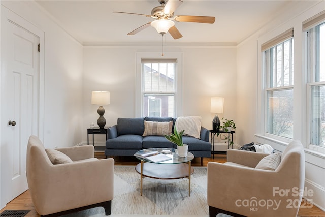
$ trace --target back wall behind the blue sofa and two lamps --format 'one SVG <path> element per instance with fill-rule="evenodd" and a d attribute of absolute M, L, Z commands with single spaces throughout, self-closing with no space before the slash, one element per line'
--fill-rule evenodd
<path fill-rule="evenodd" d="M 135 117 L 137 52 L 160 52 L 158 46 L 84 47 L 84 129 L 98 118 L 98 106 L 90 104 L 92 90 L 110 91 L 110 105 L 104 106 L 107 126 L 118 117 Z M 236 121 L 236 47 L 165 47 L 164 52 L 182 53 L 182 110 L 178 116 L 202 116 L 202 125 L 212 129 L 214 114 L 210 99 L 224 97 L 224 113 Z M 86 141 L 86 134 L 83 141 Z M 104 138 L 95 138 L 100 143 Z"/>

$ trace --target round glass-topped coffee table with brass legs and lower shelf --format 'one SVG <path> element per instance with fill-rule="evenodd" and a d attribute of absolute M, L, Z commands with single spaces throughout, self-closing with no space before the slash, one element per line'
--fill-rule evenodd
<path fill-rule="evenodd" d="M 147 158 L 143 158 L 145 153 L 158 152 L 169 157 L 169 160 L 161 162 L 153 162 Z M 144 177 L 155 179 L 179 179 L 188 178 L 188 196 L 190 196 L 191 189 L 191 174 L 194 169 L 191 167 L 191 160 L 194 155 L 187 152 L 187 157 L 179 157 L 177 149 L 174 148 L 148 148 L 135 153 L 137 159 L 141 161 L 136 166 L 136 171 L 141 175 L 140 181 L 140 194 L 142 196 L 142 180 Z"/>

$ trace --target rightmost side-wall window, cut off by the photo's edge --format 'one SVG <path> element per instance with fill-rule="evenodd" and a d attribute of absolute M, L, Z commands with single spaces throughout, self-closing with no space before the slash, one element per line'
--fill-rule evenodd
<path fill-rule="evenodd" d="M 325 149 L 325 12 L 303 22 L 307 32 L 310 148 Z M 317 147 L 323 147 L 318 149 Z"/>

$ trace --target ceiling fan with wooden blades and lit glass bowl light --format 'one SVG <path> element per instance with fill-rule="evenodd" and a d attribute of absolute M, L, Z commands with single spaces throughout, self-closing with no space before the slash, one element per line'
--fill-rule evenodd
<path fill-rule="evenodd" d="M 183 3 L 181 0 L 158 0 L 161 6 L 154 7 L 151 10 L 151 15 L 146 14 L 137 14 L 137 13 L 128 13 L 128 12 L 120 12 L 113 11 L 114 13 L 123 13 L 123 14 L 135 14 L 142 15 L 146 17 L 151 17 L 155 19 L 152 22 L 148 22 L 132 32 L 129 32 L 127 35 L 135 35 L 139 33 L 141 30 L 153 26 L 158 33 L 161 35 L 169 32 L 174 39 L 179 39 L 182 34 L 175 27 L 174 21 L 177 22 L 198 22 L 198 23 L 214 23 L 215 17 L 207 17 L 207 16 L 188 16 L 188 15 L 175 15 L 174 11 Z"/>

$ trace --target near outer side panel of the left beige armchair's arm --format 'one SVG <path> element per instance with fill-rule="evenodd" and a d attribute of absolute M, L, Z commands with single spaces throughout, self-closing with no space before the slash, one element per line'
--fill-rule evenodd
<path fill-rule="evenodd" d="M 50 165 L 33 177 L 31 191 L 41 215 L 113 199 L 114 159 Z M 42 175 L 41 175 L 42 174 Z M 49 188 L 50 187 L 50 188 Z M 68 193 L 68 194 L 67 194 Z"/>

